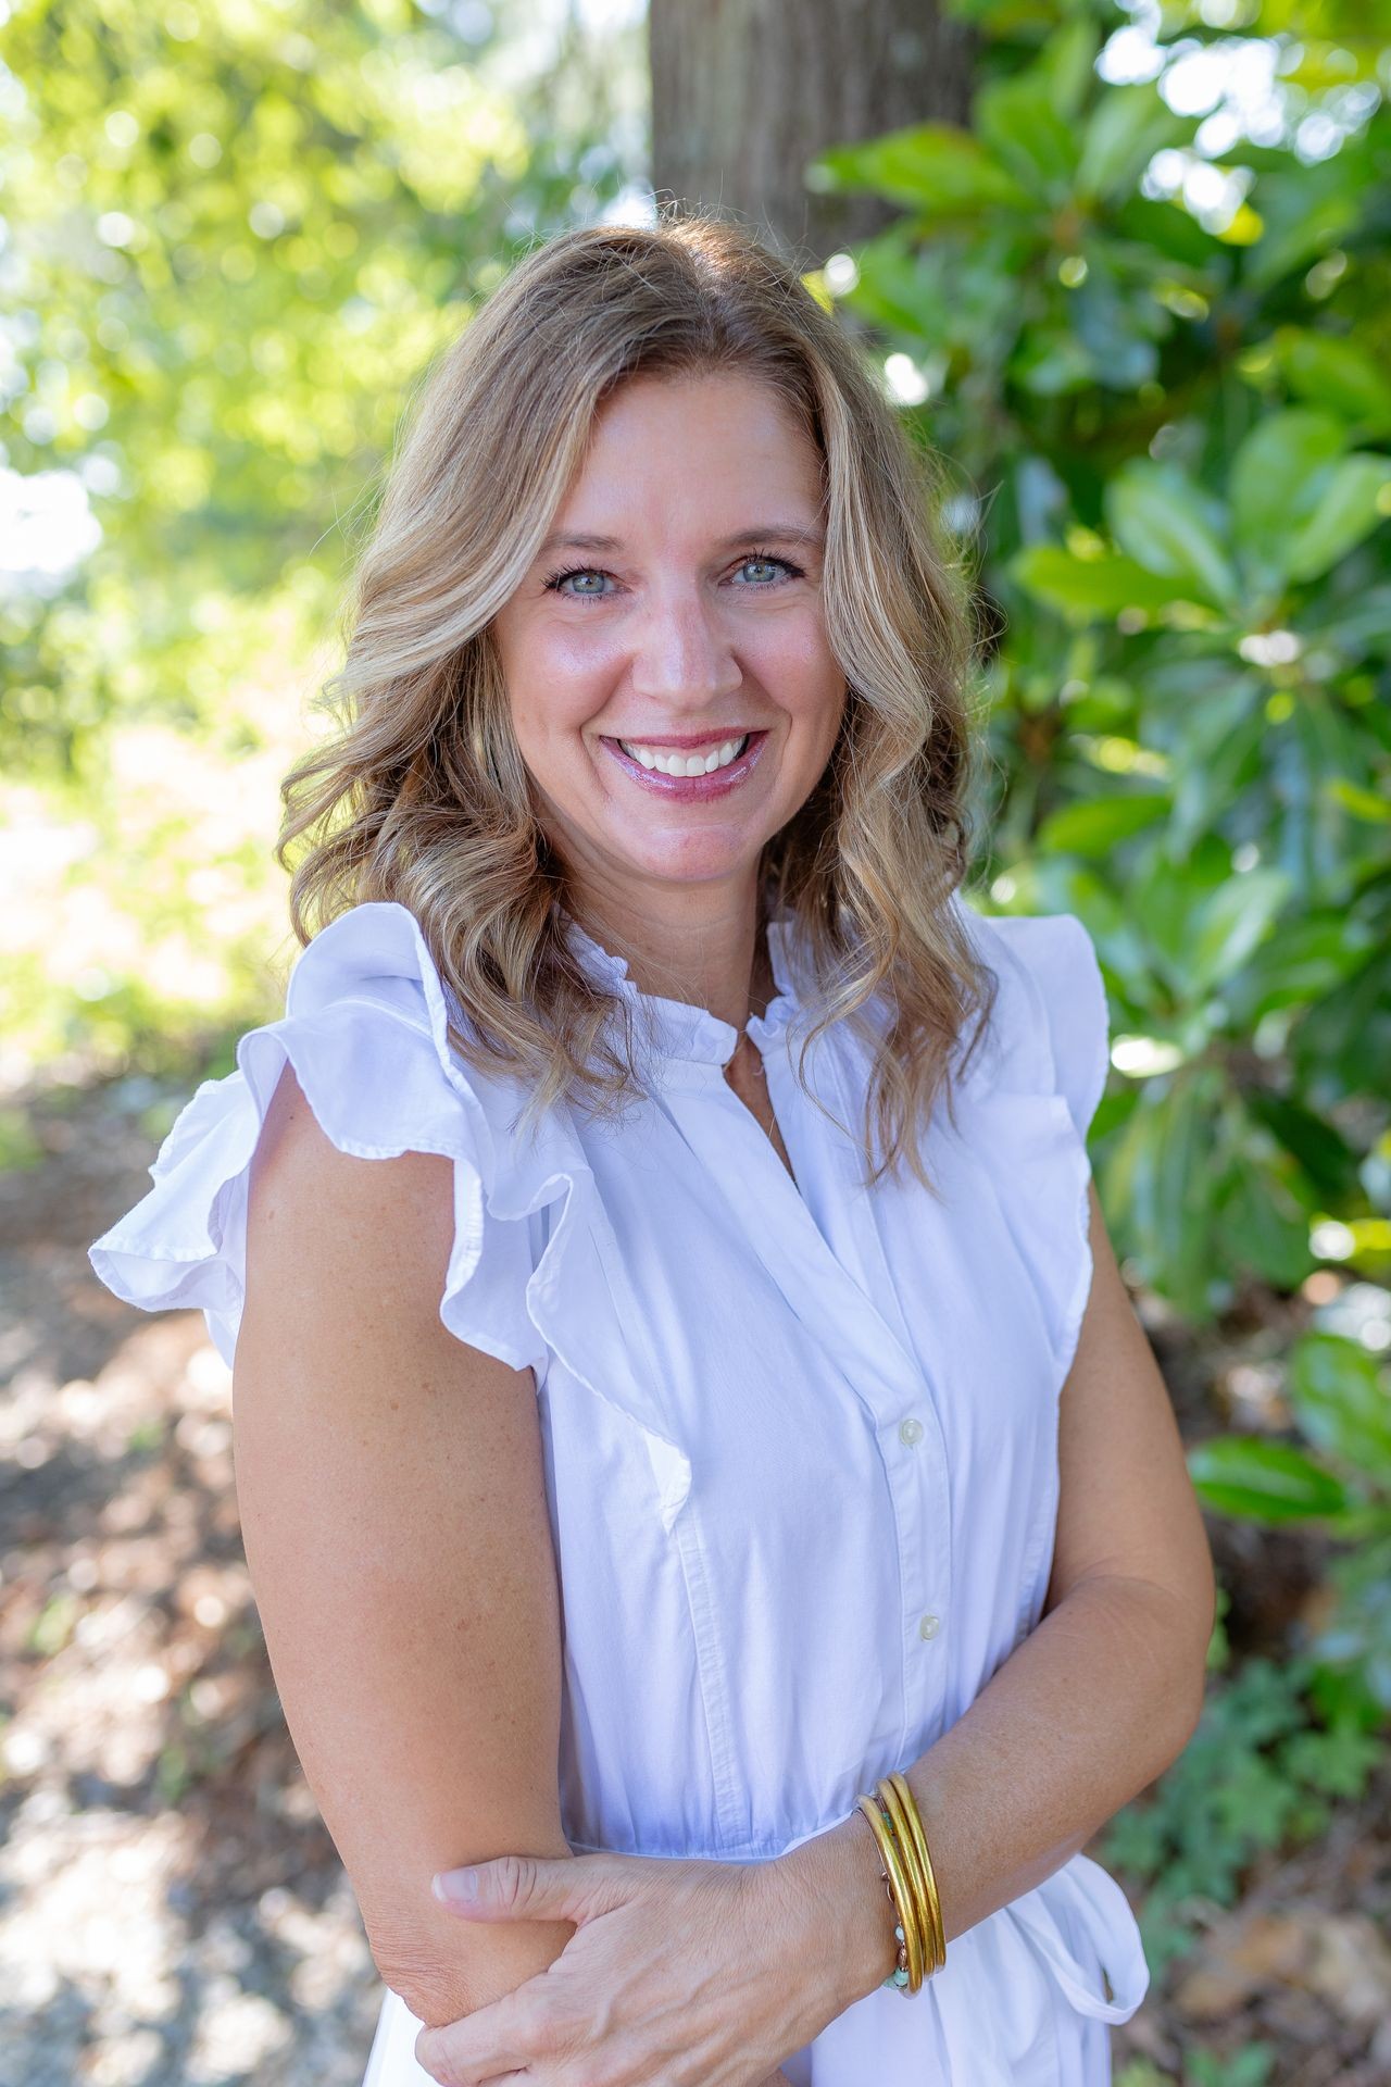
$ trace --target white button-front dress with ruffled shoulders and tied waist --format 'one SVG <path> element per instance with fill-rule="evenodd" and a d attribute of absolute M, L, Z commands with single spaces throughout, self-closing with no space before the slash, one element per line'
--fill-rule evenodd
<path fill-rule="evenodd" d="M 90 1248 L 129 1302 L 202 1309 L 231 1361 L 248 1165 L 286 1058 L 340 1150 L 453 1158 L 440 1317 L 536 1373 L 576 1851 L 797 1847 L 926 1753 L 1043 1613 L 1105 989 L 1072 914 L 953 904 L 999 1000 L 957 1131 L 938 1108 L 924 1142 L 941 1204 L 911 1175 L 865 1192 L 857 1148 L 803 1094 L 790 920 L 770 929 L 778 993 L 749 1035 L 797 1181 L 724 1079 L 736 1031 L 640 993 L 580 929 L 582 962 L 644 1023 L 655 1092 L 617 1127 L 565 1106 L 536 1142 L 513 1135 L 521 1089 L 448 1048 L 417 920 L 373 902 L 300 952 L 286 1014 L 198 1087 L 154 1188 Z M 845 1025 L 809 1054 L 843 1125 L 868 1064 Z M 1147 1985 L 1120 1885 L 1074 1855 L 957 1935 L 918 1995 L 876 1989 L 786 2072 L 1101 2087 L 1105 2024 Z M 365 2087 L 423 2087 L 417 2029 L 384 1993 Z"/>

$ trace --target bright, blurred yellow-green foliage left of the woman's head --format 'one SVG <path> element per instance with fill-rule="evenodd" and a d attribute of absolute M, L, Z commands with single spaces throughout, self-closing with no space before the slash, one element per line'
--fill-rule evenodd
<path fill-rule="evenodd" d="M 561 0 L 0 21 L 0 493 L 33 511 L 0 570 L 19 1085 L 273 1010 L 277 783 L 338 664 L 348 534 L 430 357 L 536 230 L 630 179 L 644 79 L 636 31 L 599 50 Z"/>

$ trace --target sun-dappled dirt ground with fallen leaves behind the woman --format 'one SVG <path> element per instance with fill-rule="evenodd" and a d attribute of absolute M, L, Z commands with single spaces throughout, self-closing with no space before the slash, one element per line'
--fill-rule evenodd
<path fill-rule="evenodd" d="M 0 2087 L 359 2087 L 377 2016 L 242 1559 L 229 1373 L 86 1256 L 194 1083 L 35 1096 L 35 1165 L 0 1173 Z M 1233 1645 L 1278 1645 L 1299 1544 L 1210 1528 Z M 1389 2087 L 1389 1922 L 1383 1768 L 1112 2033 L 1118 2087 Z"/>

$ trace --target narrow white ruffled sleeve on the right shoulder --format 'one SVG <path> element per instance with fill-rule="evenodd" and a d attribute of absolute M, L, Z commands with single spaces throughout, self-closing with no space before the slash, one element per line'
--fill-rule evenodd
<path fill-rule="evenodd" d="M 1087 1133 L 1109 1064 L 1105 981 L 1076 914 L 959 910 L 999 981 L 966 1075 L 970 1137 L 1032 1271 L 1061 1384 L 1093 1275 Z"/>

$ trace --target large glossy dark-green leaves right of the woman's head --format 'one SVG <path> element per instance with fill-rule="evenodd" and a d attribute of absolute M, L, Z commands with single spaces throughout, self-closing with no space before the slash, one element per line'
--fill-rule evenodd
<path fill-rule="evenodd" d="M 903 211 L 826 284 L 953 461 L 989 889 L 1095 937 L 1122 1075 L 1099 1171 L 1147 1284 L 1195 1325 L 1320 1261 L 1381 1284 L 1391 113 L 1251 0 L 1272 142 L 1218 111 L 1214 159 L 1164 79 L 1105 77 L 1114 10 L 968 13 L 970 131 L 843 146 L 817 179 Z M 1172 67 L 1220 42 L 1197 27 Z"/>

